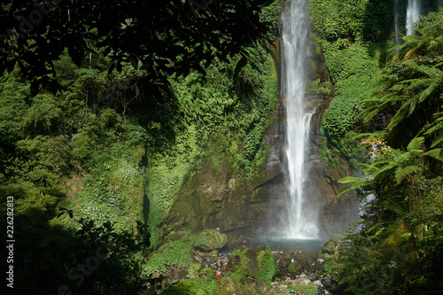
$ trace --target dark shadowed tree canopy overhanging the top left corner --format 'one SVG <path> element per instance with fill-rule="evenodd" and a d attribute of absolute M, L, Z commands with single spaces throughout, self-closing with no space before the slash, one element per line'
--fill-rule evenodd
<path fill-rule="evenodd" d="M 171 74 L 186 76 L 194 70 L 205 74 L 204 67 L 215 56 L 226 60 L 242 54 L 247 61 L 250 55 L 245 53 L 245 47 L 268 43 L 276 24 L 275 2 L 262 0 L 250 4 L 229 0 L 212 2 L 207 8 L 186 1 L 98 1 L 88 8 L 82 2 L 64 3 L 47 8 L 58 17 L 42 16 L 44 26 L 29 23 L 26 32 L 19 15 L 31 12 L 32 17 L 35 6 L 4 4 L 0 18 L 10 27 L 2 39 L 4 58 L 0 72 L 11 72 L 19 64 L 20 74 L 32 82 L 33 93 L 41 85 L 53 92 L 61 89 L 54 78 L 58 74 L 54 64 L 63 54 L 69 55 L 75 66 L 101 66 L 108 73 L 114 68 L 121 72 L 129 64 L 135 69 L 140 67 L 148 82 L 157 85 Z M 273 5 L 268 7 L 270 4 Z M 268 9 L 262 12 L 265 7 Z M 72 15 L 82 17 L 74 20 Z M 158 19 L 156 25 L 144 20 L 153 18 Z M 237 30 L 245 35 L 238 35 Z M 141 35 L 144 37 L 140 38 Z M 146 46 L 146 40 L 156 45 Z M 97 53 L 106 58 L 95 60 Z"/>

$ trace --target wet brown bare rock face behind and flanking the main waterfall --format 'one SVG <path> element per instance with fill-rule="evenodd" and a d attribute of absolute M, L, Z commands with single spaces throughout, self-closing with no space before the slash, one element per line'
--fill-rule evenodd
<path fill-rule="evenodd" d="M 311 79 L 330 81 L 324 65 L 323 54 L 315 53 L 318 44 L 312 44 L 309 58 L 315 66 L 309 73 Z M 315 70 L 314 70 L 315 69 Z M 319 227 L 323 237 L 341 233 L 348 224 L 358 219 L 358 208 L 353 196 L 337 197 L 344 185 L 335 180 L 348 175 L 342 169 L 330 174 L 320 158 L 319 145 L 324 140 L 320 133 L 321 118 L 332 98 L 320 93 L 307 96 L 307 108 L 315 113 L 311 119 L 310 169 L 307 175 L 309 203 L 319 216 Z M 245 244 L 262 235 L 271 235 L 274 229 L 284 227 L 281 215 L 286 211 L 287 179 L 284 173 L 285 156 L 285 100 L 281 98 L 271 113 L 274 122 L 263 136 L 262 146 L 271 145 L 266 163 L 252 182 L 237 177 L 225 156 L 221 164 L 214 167 L 207 160 L 191 179 L 184 182 L 175 205 L 165 216 L 163 223 L 176 229 L 181 227 L 198 232 L 203 229 L 219 228 L 228 236 L 229 244 Z M 340 164 L 347 166 L 343 159 Z"/>

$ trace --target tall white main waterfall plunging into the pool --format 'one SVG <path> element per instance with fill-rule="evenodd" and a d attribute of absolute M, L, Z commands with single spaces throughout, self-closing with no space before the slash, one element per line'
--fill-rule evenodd
<path fill-rule="evenodd" d="M 283 235 L 294 239 L 315 238 L 318 232 L 317 216 L 307 206 L 309 196 L 304 188 L 312 116 L 304 108 L 309 43 L 307 0 L 291 0 L 290 4 L 284 5 L 283 11 L 281 95 L 287 112 L 285 154 L 290 182 Z"/>

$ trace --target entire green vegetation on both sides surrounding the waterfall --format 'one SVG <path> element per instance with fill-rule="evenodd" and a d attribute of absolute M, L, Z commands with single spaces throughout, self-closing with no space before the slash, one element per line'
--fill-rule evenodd
<path fill-rule="evenodd" d="M 227 159 L 251 182 L 269 148 L 261 142 L 278 93 L 269 41 L 280 4 L 204 3 L 1 4 L 0 205 L 6 213 L 13 197 L 14 291 L 129 294 L 172 266 L 198 278 L 165 294 L 258 294 L 239 282 L 276 280 L 268 247 L 237 249 L 238 267 L 216 281 L 191 253 L 225 237 L 157 230 L 202 163 Z M 339 252 L 324 257 L 343 293 L 443 289 L 443 11 L 423 4 L 416 35 L 394 47 L 394 10 L 404 23 L 405 7 L 310 2 L 334 85 L 330 93 L 330 82 L 312 83 L 334 96 L 322 156 L 330 171 L 339 155 L 365 174 L 337 180 L 365 204 Z"/>

